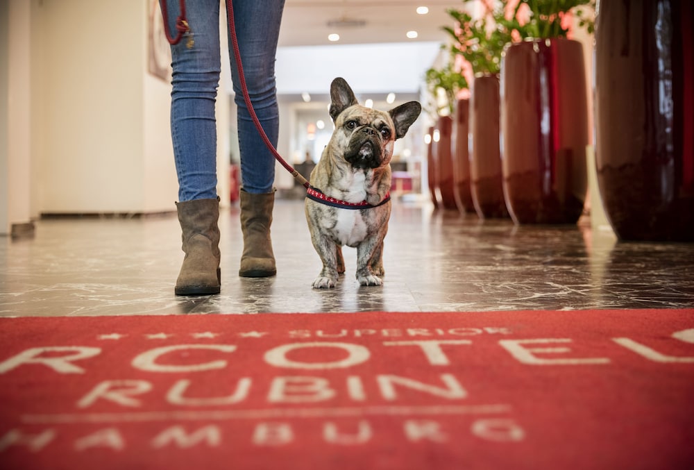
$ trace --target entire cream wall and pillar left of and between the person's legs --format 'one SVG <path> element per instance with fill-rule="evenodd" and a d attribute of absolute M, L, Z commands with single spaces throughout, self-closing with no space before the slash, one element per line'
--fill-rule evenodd
<path fill-rule="evenodd" d="M 0 0 L 0 233 L 43 213 L 175 210 L 171 85 L 147 72 L 156 1 Z"/>

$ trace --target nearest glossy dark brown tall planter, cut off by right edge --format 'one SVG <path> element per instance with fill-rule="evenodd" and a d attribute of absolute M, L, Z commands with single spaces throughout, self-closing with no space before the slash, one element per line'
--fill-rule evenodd
<path fill-rule="evenodd" d="M 694 8 L 602 1 L 595 160 L 620 240 L 694 241 Z"/>

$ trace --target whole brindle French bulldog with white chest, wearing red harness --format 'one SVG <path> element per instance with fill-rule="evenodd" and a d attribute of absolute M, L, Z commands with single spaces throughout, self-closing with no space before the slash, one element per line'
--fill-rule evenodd
<path fill-rule="evenodd" d="M 357 249 L 359 285 L 381 285 L 383 240 L 391 214 L 390 161 L 422 107 L 409 101 L 388 112 L 357 103 L 344 80 L 330 85 L 330 117 L 335 131 L 310 175 L 305 212 L 323 269 L 313 287 L 335 287 L 344 274 L 342 246 Z"/>

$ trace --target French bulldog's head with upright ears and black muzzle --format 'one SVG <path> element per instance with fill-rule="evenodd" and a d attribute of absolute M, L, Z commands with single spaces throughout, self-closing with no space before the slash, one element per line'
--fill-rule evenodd
<path fill-rule="evenodd" d="M 361 106 L 342 78 L 332 82 L 330 98 L 330 117 L 335 122 L 331 146 L 340 149 L 344 159 L 358 169 L 389 164 L 394 142 L 407 133 L 421 112 L 416 101 L 389 112 Z"/>

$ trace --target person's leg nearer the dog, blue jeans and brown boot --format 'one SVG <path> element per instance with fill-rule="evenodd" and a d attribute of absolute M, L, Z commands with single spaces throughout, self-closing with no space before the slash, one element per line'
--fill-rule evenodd
<path fill-rule="evenodd" d="M 279 129 L 275 56 L 283 8 L 284 0 L 233 1 L 236 35 L 248 94 L 273 146 L 277 146 Z M 246 108 L 231 38 L 229 46 L 241 153 L 240 203 L 244 252 L 239 276 L 274 276 L 276 265 L 270 226 L 275 198 L 275 158 L 266 148 Z"/>

